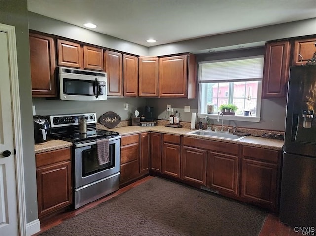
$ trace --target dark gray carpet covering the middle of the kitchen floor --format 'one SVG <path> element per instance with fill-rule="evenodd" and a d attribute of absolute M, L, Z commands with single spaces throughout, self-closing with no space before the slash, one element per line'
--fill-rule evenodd
<path fill-rule="evenodd" d="M 155 177 L 40 236 L 257 236 L 267 215 Z"/>

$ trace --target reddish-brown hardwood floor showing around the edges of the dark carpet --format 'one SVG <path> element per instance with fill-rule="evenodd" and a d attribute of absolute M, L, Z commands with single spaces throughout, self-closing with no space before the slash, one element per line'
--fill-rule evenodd
<path fill-rule="evenodd" d="M 148 181 L 151 178 L 153 178 L 153 177 L 147 176 L 147 177 L 145 177 L 141 180 L 138 180 L 138 181 L 126 186 L 126 187 L 119 189 L 118 191 L 116 191 L 115 193 L 113 193 L 111 195 L 108 195 L 108 196 L 101 198 L 97 201 L 91 202 L 91 203 L 89 203 L 89 204 L 87 204 L 87 205 L 85 205 L 77 210 L 61 213 L 61 214 L 58 214 L 56 216 L 52 216 L 52 217 L 47 218 L 47 219 L 42 219 L 42 220 L 40 220 L 40 223 L 41 223 L 40 232 L 38 232 L 32 236 L 37 236 L 40 233 L 62 223 L 63 221 L 65 221 L 71 217 L 74 217 L 74 216 L 80 214 L 81 212 L 84 212 L 92 207 L 95 207 L 98 204 L 105 202 L 105 201 L 107 201 L 115 196 L 118 196 L 119 194 L 121 194 L 121 193 L 123 193 L 131 188 L 134 188 L 134 187 Z M 273 215 L 273 214 L 269 214 L 262 229 L 261 229 L 261 231 L 260 231 L 259 236 L 302 236 L 302 234 L 294 232 L 294 230 L 291 227 L 280 222 L 278 216 Z"/>

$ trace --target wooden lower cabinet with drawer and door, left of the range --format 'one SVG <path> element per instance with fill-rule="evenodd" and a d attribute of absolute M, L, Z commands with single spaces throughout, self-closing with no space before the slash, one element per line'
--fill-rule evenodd
<path fill-rule="evenodd" d="M 35 155 L 38 215 L 41 219 L 72 204 L 70 148 Z"/>

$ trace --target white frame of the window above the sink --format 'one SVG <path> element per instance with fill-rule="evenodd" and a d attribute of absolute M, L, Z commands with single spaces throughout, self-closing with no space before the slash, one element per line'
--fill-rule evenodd
<path fill-rule="evenodd" d="M 263 55 L 257 55 L 257 56 L 252 56 L 252 57 L 263 57 Z M 199 68 L 198 68 L 198 83 L 199 83 L 199 91 L 198 91 L 198 112 L 197 116 L 199 118 L 206 118 L 209 117 L 210 119 L 217 119 L 218 113 L 212 113 L 212 114 L 207 114 L 207 113 L 201 113 L 202 106 L 205 105 L 205 98 L 202 101 L 202 84 L 207 83 L 207 82 L 200 82 L 200 76 L 201 76 L 201 64 L 205 64 L 207 62 L 219 62 L 219 61 L 232 61 L 232 60 L 242 60 L 242 59 L 247 59 L 250 57 L 238 57 L 238 58 L 228 58 L 228 59 L 222 59 L 222 60 L 212 60 L 212 61 L 201 61 L 199 63 Z M 262 80 L 263 80 L 263 75 L 262 78 L 258 79 L 258 90 L 257 90 L 257 103 L 256 103 L 256 116 L 241 116 L 241 115 L 224 115 L 223 119 L 224 120 L 235 120 L 235 121 L 247 121 L 247 122 L 260 122 L 261 119 L 261 100 L 262 100 Z M 238 80 L 240 82 L 245 82 L 249 81 L 249 79 L 240 79 Z M 236 82 L 236 80 L 226 80 L 226 81 L 216 81 L 213 80 L 211 82 L 218 82 L 218 83 L 223 83 L 223 82 Z M 230 84 L 231 85 L 231 84 Z M 231 86 L 230 86 L 231 87 Z M 229 91 L 229 96 L 228 99 L 233 99 L 231 97 L 232 91 Z"/>

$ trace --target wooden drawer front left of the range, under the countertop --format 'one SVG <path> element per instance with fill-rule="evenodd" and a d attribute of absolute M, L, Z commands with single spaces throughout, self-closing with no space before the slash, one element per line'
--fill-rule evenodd
<path fill-rule="evenodd" d="M 71 149 L 64 148 L 35 155 L 36 167 L 41 167 L 57 162 L 68 161 L 71 158 Z"/>

